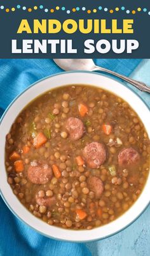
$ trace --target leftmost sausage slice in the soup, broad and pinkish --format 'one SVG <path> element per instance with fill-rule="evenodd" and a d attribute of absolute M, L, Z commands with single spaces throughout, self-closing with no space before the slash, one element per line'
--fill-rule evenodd
<path fill-rule="evenodd" d="M 51 167 L 48 165 L 30 166 L 27 170 L 29 180 L 34 184 L 46 184 L 53 176 Z"/>

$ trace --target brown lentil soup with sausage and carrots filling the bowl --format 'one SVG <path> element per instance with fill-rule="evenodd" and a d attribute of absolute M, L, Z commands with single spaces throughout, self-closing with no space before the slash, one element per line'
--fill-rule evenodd
<path fill-rule="evenodd" d="M 6 136 L 13 193 L 49 225 L 93 229 L 122 215 L 149 174 L 144 124 L 121 98 L 94 86 L 42 94 Z"/>

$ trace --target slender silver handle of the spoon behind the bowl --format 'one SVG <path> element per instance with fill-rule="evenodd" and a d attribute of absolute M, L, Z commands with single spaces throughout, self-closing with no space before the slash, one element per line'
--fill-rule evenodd
<path fill-rule="evenodd" d="M 146 91 L 147 93 L 150 93 L 150 87 L 144 84 L 144 82 L 139 82 L 137 80 L 130 79 L 129 77 L 125 77 L 125 75 L 118 74 L 116 72 L 113 72 L 111 70 L 107 70 L 106 68 L 101 68 L 99 66 L 95 66 L 94 70 L 99 70 L 101 72 L 106 72 L 111 75 L 114 75 L 116 77 L 119 77 L 120 79 L 125 80 L 129 84 L 132 84 L 133 86 L 137 87 L 140 91 Z"/>

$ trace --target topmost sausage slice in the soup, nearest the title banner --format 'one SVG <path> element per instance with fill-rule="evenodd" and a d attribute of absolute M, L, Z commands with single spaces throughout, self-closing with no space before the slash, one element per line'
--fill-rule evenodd
<path fill-rule="evenodd" d="M 69 132 L 71 140 L 79 140 L 85 132 L 83 122 L 76 117 L 69 117 L 65 123 L 65 128 Z"/>

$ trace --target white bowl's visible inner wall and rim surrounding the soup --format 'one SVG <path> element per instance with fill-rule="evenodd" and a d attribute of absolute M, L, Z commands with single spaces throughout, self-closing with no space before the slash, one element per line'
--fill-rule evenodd
<path fill-rule="evenodd" d="M 1 134 L 1 147 L 0 147 L 0 189 L 1 195 L 6 202 L 10 210 L 18 216 L 23 222 L 37 230 L 44 236 L 48 236 L 55 239 L 65 240 L 65 241 L 93 241 L 96 239 L 102 239 L 107 236 L 111 236 L 122 229 L 125 229 L 130 223 L 132 223 L 136 218 L 146 209 L 149 204 L 149 188 L 150 188 L 150 176 L 147 179 L 146 186 L 141 193 L 139 199 L 133 204 L 132 207 L 126 213 L 121 215 L 119 218 L 113 222 L 104 225 L 102 227 L 97 227 L 92 230 L 67 230 L 61 229 L 59 227 L 50 226 L 43 222 L 39 218 L 32 215 L 27 209 L 20 203 L 17 197 L 13 194 L 10 185 L 7 183 L 7 175 L 4 166 L 4 147 L 5 147 L 5 137 L 10 131 L 11 124 L 15 121 L 20 111 L 31 102 L 34 98 L 40 94 L 60 86 L 65 86 L 67 84 L 86 84 L 101 87 L 102 89 L 107 89 L 108 91 L 117 94 L 123 98 L 130 106 L 137 112 L 142 123 L 144 123 L 147 133 L 150 137 L 150 112 L 145 103 L 133 93 L 132 90 L 128 89 L 126 86 L 120 82 L 116 82 L 109 77 L 100 75 L 99 73 L 90 72 L 65 72 L 59 73 L 57 75 L 52 75 L 46 79 L 40 80 L 36 84 L 26 89 L 20 96 L 18 96 L 5 111 L 0 124 L 0 134 Z"/>

